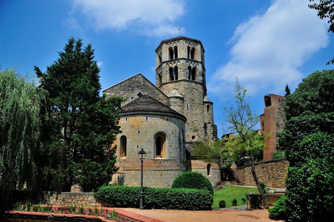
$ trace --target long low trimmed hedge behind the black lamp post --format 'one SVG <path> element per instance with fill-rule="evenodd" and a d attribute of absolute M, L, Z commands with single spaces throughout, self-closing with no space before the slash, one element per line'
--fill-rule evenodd
<path fill-rule="evenodd" d="M 207 190 L 144 187 L 145 209 L 211 210 L 213 196 Z M 115 207 L 139 208 L 140 187 L 103 186 L 94 197 Z"/>

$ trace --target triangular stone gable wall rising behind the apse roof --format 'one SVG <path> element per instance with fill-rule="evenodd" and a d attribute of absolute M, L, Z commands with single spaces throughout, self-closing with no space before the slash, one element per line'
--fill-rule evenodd
<path fill-rule="evenodd" d="M 150 95 L 157 99 L 160 103 L 168 105 L 168 96 L 161 92 L 140 73 L 124 80 L 123 82 L 120 82 L 119 84 L 103 90 L 103 92 L 107 94 L 107 97 L 123 96 L 124 98 L 127 98 L 122 105 L 126 105 L 137 99 L 139 93 L 143 95 Z"/>

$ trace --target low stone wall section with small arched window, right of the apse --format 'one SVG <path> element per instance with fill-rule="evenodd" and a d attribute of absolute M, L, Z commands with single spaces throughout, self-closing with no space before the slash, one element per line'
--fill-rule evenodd
<path fill-rule="evenodd" d="M 208 165 L 211 165 L 209 175 Z M 200 172 L 203 176 L 210 180 L 212 187 L 214 188 L 221 182 L 218 163 L 208 163 L 197 159 L 187 159 L 187 170 Z"/>

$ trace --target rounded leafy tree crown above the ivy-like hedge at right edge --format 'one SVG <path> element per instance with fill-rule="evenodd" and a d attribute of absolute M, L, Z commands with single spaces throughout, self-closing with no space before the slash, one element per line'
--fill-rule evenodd
<path fill-rule="evenodd" d="M 295 91 L 285 97 L 284 107 L 287 119 L 301 115 L 334 112 L 334 72 L 316 71 L 298 85 Z"/>

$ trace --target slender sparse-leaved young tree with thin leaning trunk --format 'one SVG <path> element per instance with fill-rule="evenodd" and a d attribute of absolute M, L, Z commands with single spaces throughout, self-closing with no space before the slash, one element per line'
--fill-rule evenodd
<path fill-rule="evenodd" d="M 254 127 L 259 122 L 259 117 L 255 112 L 252 112 L 249 106 L 249 101 L 246 97 L 247 90 L 240 86 L 237 78 L 235 82 L 235 102 L 234 105 L 224 107 L 224 113 L 226 115 L 227 122 L 229 123 L 230 131 L 237 133 L 235 139 L 230 139 L 226 144 L 227 148 L 233 149 L 236 147 L 242 147 L 251 158 L 251 172 L 255 181 L 255 184 L 262 196 L 266 209 L 269 209 L 267 199 L 259 185 L 256 172 L 255 172 L 255 155 L 258 150 L 264 149 L 264 140 L 258 139 L 253 135 Z"/>

